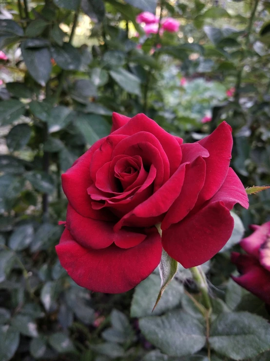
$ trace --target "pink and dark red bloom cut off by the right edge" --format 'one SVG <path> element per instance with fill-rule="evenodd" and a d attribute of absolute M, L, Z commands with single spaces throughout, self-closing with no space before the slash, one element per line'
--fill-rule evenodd
<path fill-rule="evenodd" d="M 232 252 L 231 261 L 241 276 L 232 279 L 246 290 L 270 304 L 270 222 L 252 225 L 255 231 L 242 239 L 240 246 L 247 255 Z"/>

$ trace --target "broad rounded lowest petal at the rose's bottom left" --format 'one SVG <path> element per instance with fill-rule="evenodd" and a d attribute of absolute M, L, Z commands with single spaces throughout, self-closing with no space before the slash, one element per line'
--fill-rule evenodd
<path fill-rule="evenodd" d="M 157 232 L 138 246 L 121 249 L 112 244 L 102 250 L 80 246 L 65 229 L 56 246 L 62 267 L 81 287 L 94 292 L 122 293 L 134 288 L 160 262 L 162 246 Z"/>

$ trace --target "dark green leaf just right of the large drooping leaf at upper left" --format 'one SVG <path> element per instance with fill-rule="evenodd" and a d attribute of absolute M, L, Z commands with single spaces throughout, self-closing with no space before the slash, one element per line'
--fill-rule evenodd
<path fill-rule="evenodd" d="M 64 42 L 63 46 L 52 45 L 52 57 L 60 68 L 64 70 L 79 70 L 81 55 L 74 46 Z"/>

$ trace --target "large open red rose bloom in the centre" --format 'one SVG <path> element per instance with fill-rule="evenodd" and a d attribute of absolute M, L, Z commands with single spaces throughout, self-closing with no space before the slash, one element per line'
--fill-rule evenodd
<path fill-rule="evenodd" d="M 69 205 L 61 265 L 80 286 L 121 293 L 150 275 L 162 245 L 186 268 L 210 259 L 231 236 L 229 210 L 248 207 L 229 168 L 231 147 L 225 122 L 182 144 L 144 114 L 114 113 L 111 134 L 62 175 Z"/>

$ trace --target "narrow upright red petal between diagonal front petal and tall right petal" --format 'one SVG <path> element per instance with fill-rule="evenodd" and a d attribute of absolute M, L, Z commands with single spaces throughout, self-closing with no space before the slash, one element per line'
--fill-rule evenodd
<path fill-rule="evenodd" d="M 183 156 L 184 154 L 183 152 Z M 205 172 L 206 165 L 202 157 L 196 158 L 186 166 L 183 187 L 161 223 L 162 231 L 169 228 L 171 224 L 181 221 L 193 209 L 204 185 Z"/>

